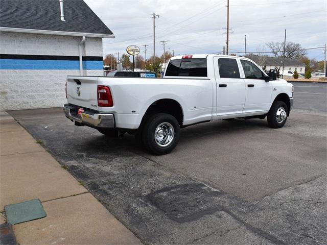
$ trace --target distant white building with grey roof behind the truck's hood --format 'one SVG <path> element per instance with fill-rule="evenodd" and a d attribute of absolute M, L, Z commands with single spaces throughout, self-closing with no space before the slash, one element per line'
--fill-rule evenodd
<path fill-rule="evenodd" d="M 280 68 L 281 72 L 283 69 L 283 58 L 279 57 L 268 57 L 268 56 L 257 56 L 247 55 L 246 58 L 253 60 L 260 66 L 266 66 L 266 70 L 274 69 L 275 67 Z M 306 66 L 300 59 L 285 58 L 284 70 L 297 71 L 298 73 L 305 73 Z"/>

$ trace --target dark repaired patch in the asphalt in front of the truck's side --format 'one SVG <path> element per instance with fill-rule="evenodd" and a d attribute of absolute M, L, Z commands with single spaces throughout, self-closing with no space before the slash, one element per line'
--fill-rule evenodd
<path fill-rule="evenodd" d="M 217 197 L 203 184 L 184 184 L 163 188 L 148 195 L 150 203 L 178 223 L 191 222 L 220 210 Z"/>

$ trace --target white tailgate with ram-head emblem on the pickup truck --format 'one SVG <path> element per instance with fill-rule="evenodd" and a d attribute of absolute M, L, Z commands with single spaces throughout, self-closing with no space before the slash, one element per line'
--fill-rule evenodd
<path fill-rule="evenodd" d="M 67 101 L 80 107 L 96 109 L 98 78 L 97 77 L 67 77 Z"/>

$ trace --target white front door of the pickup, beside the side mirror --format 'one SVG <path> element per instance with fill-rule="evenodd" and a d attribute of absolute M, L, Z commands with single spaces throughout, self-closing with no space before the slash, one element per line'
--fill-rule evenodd
<path fill-rule="evenodd" d="M 253 62 L 240 59 L 242 77 L 246 84 L 243 113 L 266 112 L 270 106 L 272 86 L 264 80 L 264 72 Z"/>

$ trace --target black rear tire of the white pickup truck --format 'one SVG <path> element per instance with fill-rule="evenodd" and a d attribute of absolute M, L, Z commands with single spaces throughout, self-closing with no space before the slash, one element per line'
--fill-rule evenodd
<path fill-rule="evenodd" d="M 160 128 L 160 124 L 163 124 Z M 167 144 L 166 146 L 160 146 L 159 142 L 155 139 L 155 133 L 158 128 L 158 139 L 162 139 L 162 145 Z M 171 129 L 173 128 L 173 129 Z M 162 130 L 164 129 L 164 130 Z M 171 130 L 166 130 L 171 129 Z M 165 155 L 170 153 L 174 148 L 176 147 L 178 140 L 179 140 L 179 124 L 175 117 L 173 117 L 170 114 L 167 113 L 156 113 L 150 116 L 143 127 L 142 131 L 142 141 L 145 146 L 145 148 L 155 154 L 155 155 Z M 161 131 L 161 132 L 160 132 Z M 165 132 L 170 132 L 170 136 L 165 136 Z M 160 136 L 160 133 L 164 132 L 164 135 L 162 137 Z M 171 139 L 169 140 L 169 137 Z M 166 139 L 166 140 L 165 140 Z M 167 141 L 167 143 L 166 143 Z"/>

